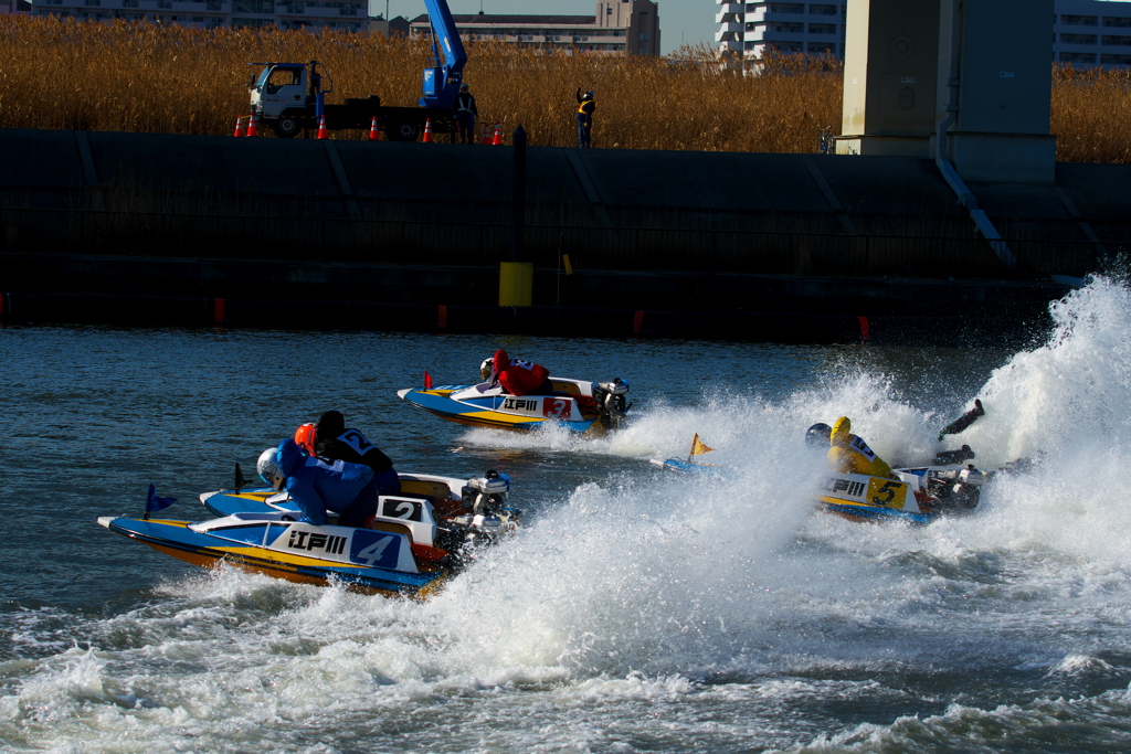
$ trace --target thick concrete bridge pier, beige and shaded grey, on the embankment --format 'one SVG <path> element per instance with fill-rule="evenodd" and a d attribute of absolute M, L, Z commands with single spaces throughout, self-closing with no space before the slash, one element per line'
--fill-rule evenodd
<path fill-rule="evenodd" d="M 838 154 L 1051 183 L 1053 0 L 848 0 Z"/>

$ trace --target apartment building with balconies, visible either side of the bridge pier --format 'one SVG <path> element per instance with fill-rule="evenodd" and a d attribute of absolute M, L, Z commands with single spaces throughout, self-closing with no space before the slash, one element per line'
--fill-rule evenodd
<path fill-rule="evenodd" d="M 846 2 L 716 0 L 719 52 L 758 61 L 770 46 L 787 53 L 844 58 Z M 1053 60 L 1105 68 L 1131 66 L 1131 2 L 1054 0 Z"/>

